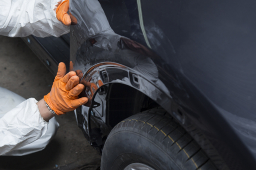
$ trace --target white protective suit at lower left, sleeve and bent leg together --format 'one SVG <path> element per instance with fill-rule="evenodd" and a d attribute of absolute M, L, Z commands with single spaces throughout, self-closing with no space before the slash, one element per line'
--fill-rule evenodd
<path fill-rule="evenodd" d="M 34 98 L 0 87 L 0 155 L 23 156 L 43 150 L 58 130 L 55 117 L 44 121 Z"/>

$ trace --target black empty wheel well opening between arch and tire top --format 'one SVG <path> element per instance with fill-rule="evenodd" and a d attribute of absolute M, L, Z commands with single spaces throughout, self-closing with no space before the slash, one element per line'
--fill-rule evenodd
<path fill-rule="evenodd" d="M 131 115 L 159 105 L 136 88 L 113 83 L 108 87 L 106 106 L 107 124 L 114 127 Z"/>

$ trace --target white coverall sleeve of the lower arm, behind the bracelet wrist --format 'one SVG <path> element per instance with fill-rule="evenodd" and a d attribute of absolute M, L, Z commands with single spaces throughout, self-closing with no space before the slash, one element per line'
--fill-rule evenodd
<path fill-rule="evenodd" d="M 34 98 L 25 100 L 0 119 L 0 155 L 30 144 L 48 127 Z"/>

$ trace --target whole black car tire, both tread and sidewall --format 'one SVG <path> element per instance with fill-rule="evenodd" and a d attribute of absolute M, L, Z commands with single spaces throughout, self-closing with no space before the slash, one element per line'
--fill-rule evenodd
<path fill-rule="evenodd" d="M 217 169 L 169 113 L 154 108 L 123 120 L 111 130 L 103 148 L 101 170 Z"/>

